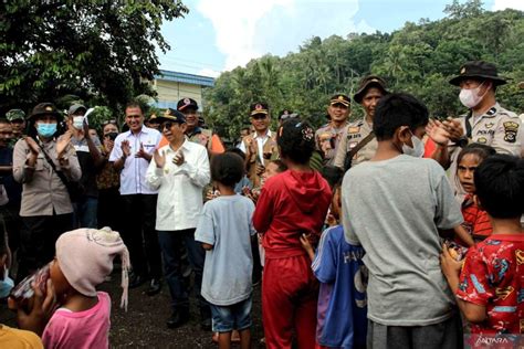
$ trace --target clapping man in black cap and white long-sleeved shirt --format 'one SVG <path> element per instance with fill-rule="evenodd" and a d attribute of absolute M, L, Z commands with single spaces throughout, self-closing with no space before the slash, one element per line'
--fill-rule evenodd
<path fill-rule="evenodd" d="M 210 308 L 200 295 L 206 252 L 195 241 L 195 230 L 203 207 L 202 190 L 210 181 L 208 151 L 186 138 L 186 117 L 180 112 L 169 108 L 158 120 L 169 144 L 154 152 L 146 181 L 150 188 L 158 190 L 156 229 L 172 300 L 172 314 L 167 326 L 176 328 L 189 319 L 188 289 L 182 281 L 179 253 L 184 242 L 195 272 L 200 325 L 203 329 L 210 329 Z"/>

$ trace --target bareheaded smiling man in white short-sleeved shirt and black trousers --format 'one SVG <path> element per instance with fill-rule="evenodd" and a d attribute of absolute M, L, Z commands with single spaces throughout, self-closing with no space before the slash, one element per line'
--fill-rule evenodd
<path fill-rule="evenodd" d="M 116 137 L 109 162 L 120 171 L 120 195 L 126 218 L 123 237 L 133 265 L 129 288 L 150 278 L 146 294 L 153 296 L 161 288 L 161 257 L 155 231 L 157 191 L 146 184 L 146 171 L 161 135 L 144 126 L 144 110 L 136 102 L 126 106 L 126 123 L 129 130 Z"/>

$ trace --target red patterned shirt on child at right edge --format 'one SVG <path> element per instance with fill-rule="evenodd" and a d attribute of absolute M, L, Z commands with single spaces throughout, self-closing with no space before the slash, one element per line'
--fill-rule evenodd
<path fill-rule="evenodd" d="M 457 297 L 486 308 L 486 319 L 471 324 L 473 335 L 522 334 L 524 234 L 495 234 L 471 247 Z"/>

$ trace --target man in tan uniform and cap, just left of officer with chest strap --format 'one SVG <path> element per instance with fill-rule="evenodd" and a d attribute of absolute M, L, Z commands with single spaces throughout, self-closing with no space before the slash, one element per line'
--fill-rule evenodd
<path fill-rule="evenodd" d="M 327 107 L 329 123 L 315 133 L 316 148 L 324 155 L 324 165 L 331 166 L 335 161 L 342 135 L 347 126 L 350 104 L 349 97 L 343 94 L 334 95 L 329 99 L 329 106 Z"/>

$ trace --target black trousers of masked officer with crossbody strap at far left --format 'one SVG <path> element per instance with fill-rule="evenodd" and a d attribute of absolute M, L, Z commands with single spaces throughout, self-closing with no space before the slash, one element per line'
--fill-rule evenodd
<path fill-rule="evenodd" d="M 17 281 L 51 262 L 56 240 L 72 228 L 73 213 L 22 216 Z"/>

